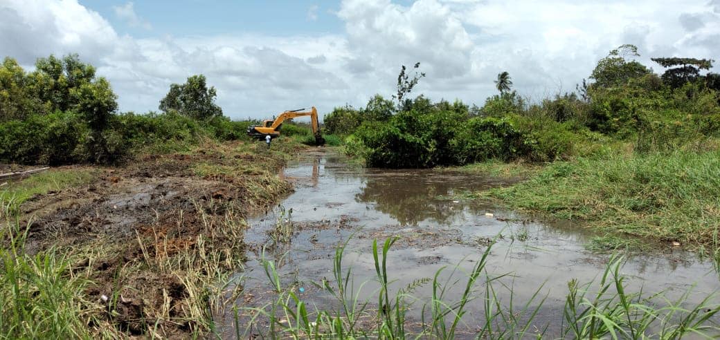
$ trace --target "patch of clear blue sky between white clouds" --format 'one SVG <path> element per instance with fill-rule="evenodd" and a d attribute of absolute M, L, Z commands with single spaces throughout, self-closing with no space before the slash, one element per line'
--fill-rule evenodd
<path fill-rule="evenodd" d="M 132 25 L 115 14 L 127 1 L 81 1 L 102 14 L 120 33 L 134 37 L 158 35 L 267 35 L 322 34 L 338 32 L 343 22 L 338 1 L 134 1 L 138 17 L 150 29 Z"/>

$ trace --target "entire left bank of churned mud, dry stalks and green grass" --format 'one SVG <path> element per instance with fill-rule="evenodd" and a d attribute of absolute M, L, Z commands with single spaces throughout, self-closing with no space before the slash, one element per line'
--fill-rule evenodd
<path fill-rule="evenodd" d="M 301 147 L 288 142 L 268 152 L 259 143 L 207 141 L 95 169 L 96 177 L 68 179 L 50 195 L 32 195 L 48 193 L 33 178 L 11 183 L 2 197 L 12 227 L 3 238 L 3 333 L 209 331 L 212 313 L 233 295 L 223 290 L 245 257 L 245 218 L 292 190 L 276 173 Z M 50 303 L 56 299 L 63 302 Z M 53 315 L 67 326 L 47 319 Z"/>

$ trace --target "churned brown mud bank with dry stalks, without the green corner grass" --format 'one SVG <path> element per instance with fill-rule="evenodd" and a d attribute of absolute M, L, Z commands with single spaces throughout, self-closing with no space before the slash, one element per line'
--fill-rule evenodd
<path fill-rule="evenodd" d="M 245 258 L 246 216 L 292 191 L 276 174 L 301 148 L 208 142 L 97 168 L 92 183 L 22 203 L 24 251 L 59 249 L 91 281 L 91 334 L 207 333 L 214 286 Z"/>

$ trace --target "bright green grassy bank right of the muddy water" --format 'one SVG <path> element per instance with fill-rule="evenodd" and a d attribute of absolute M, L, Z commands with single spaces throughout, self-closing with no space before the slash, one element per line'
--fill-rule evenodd
<path fill-rule="evenodd" d="M 601 231 L 707 244 L 720 228 L 720 151 L 554 162 L 485 195 Z"/>

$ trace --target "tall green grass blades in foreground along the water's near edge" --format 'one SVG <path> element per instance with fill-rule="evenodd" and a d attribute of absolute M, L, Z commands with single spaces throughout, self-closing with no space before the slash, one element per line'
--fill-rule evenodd
<path fill-rule="evenodd" d="M 568 282 L 562 318 L 544 323 L 537 319 L 545 303 L 540 293 L 542 285 L 524 303 L 517 303 L 512 286 L 503 282 L 508 276 L 487 272 L 492 244 L 465 273 L 461 287 L 456 285 L 459 280 L 453 279 L 459 267 L 454 267 L 448 279 L 441 280 L 444 267 L 432 279 L 416 280 L 398 289 L 387 270 L 394 243 L 395 239 L 387 239 L 383 244 L 377 240 L 372 244 L 378 287 L 374 303 L 359 298 L 368 282 L 356 287 L 351 268 L 343 267 L 347 242 L 336 249 L 334 282 L 323 279 L 316 284 L 336 299 L 335 307 L 318 307 L 303 300 L 294 287 L 282 285 L 274 262 L 263 259 L 274 300 L 261 308 L 246 308 L 253 315 L 247 323 L 240 324 L 235 314 L 238 339 L 262 318 L 269 327 L 261 336 L 270 339 L 454 339 L 461 333 L 478 339 L 524 339 L 542 338 L 551 327 L 559 329 L 555 336 L 560 339 L 680 339 L 688 335 L 711 337 L 720 332 L 714 320 L 720 311 L 716 295 L 707 295 L 693 305 L 688 303 L 690 290 L 676 300 L 666 298 L 662 292 L 631 292 L 621 274 L 622 257 L 611 257 L 599 282 Z M 414 296 L 418 287 L 430 282 L 430 297 Z M 507 289 L 509 295 L 501 298 L 498 287 Z M 447 296 L 451 291 L 462 293 L 451 300 Z M 408 311 L 418 301 L 424 301 L 420 320 L 409 318 Z M 473 303 L 474 307 L 480 305 L 479 318 L 467 314 Z"/>

